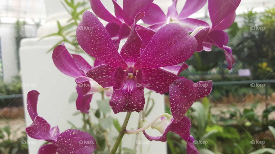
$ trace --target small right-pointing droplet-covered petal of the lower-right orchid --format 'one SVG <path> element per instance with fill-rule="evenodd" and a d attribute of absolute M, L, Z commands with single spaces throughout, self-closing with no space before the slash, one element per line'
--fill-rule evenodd
<path fill-rule="evenodd" d="M 212 81 L 200 81 L 194 84 L 196 87 L 196 100 L 209 95 L 212 91 Z"/>

